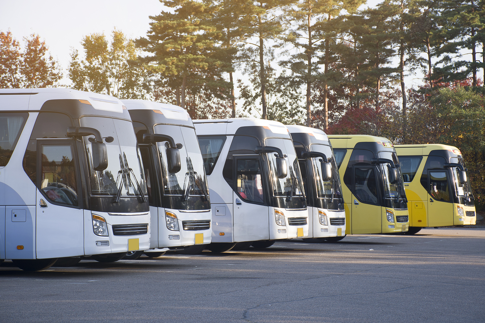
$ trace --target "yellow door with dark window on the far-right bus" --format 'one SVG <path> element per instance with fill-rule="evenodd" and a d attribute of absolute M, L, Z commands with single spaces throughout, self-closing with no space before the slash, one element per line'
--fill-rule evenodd
<path fill-rule="evenodd" d="M 448 170 L 428 170 L 428 226 L 453 225 L 453 201 L 451 200 Z"/>

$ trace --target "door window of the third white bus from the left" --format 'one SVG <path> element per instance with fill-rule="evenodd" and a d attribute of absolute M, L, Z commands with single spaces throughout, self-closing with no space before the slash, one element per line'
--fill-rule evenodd
<path fill-rule="evenodd" d="M 236 192 L 248 202 L 264 203 L 259 159 L 236 159 Z"/>

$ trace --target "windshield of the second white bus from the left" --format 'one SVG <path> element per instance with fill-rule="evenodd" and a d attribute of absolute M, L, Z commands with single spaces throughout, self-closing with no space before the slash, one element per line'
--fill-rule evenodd
<path fill-rule="evenodd" d="M 157 134 L 169 134 L 175 143 L 181 143 L 179 149 L 181 169 L 177 173 L 170 173 L 167 169 L 167 141 L 158 142 L 160 161 L 163 173 L 163 189 L 165 195 L 197 195 L 209 196 L 204 163 L 200 154 L 200 147 L 193 128 L 157 124 L 154 127 Z"/>

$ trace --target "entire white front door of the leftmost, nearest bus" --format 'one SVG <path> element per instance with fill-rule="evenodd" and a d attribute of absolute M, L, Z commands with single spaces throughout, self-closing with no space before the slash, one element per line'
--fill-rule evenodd
<path fill-rule="evenodd" d="M 38 259 L 84 255 L 79 167 L 72 140 L 37 140 Z M 42 191 L 42 193 L 40 191 Z"/>

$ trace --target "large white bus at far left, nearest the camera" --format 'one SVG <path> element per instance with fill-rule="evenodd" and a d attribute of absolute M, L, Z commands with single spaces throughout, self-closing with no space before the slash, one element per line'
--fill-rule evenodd
<path fill-rule="evenodd" d="M 132 129 L 109 95 L 0 89 L 0 259 L 34 271 L 62 257 L 109 262 L 148 249 Z"/>

